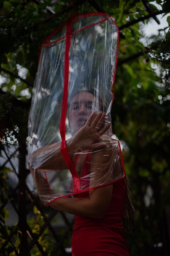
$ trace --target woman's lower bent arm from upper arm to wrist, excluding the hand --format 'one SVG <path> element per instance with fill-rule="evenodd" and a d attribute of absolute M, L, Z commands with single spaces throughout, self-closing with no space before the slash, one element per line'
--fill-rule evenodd
<path fill-rule="evenodd" d="M 61 198 L 50 205 L 55 209 L 75 215 L 103 218 L 111 201 L 113 184 L 107 185 L 106 182 L 111 182 L 110 176 L 113 181 L 113 162 L 111 160 L 113 158 L 111 145 L 109 145 L 109 149 L 92 153 L 90 162 L 93 175 L 91 175 L 89 186 L 95 187 L 98 184 L 98 178 L 103 186 L 89 190 L 89 198 Z"/>

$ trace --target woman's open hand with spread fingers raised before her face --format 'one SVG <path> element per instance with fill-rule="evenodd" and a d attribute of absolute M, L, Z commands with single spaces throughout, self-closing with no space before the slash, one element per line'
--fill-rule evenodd
<path fill-rule="evenodd" d="M 107 144 L 103 141 L 101 136 L 109 129 L 110 123 L 106 124 L 104 128 L 101 128 L 104 119 L 105 113 L 99 112 L 97 114 L 93 112 L 89 116 L 86 124 L 76 132 L 70 144 L 84 150 L 105 148 Z"/>

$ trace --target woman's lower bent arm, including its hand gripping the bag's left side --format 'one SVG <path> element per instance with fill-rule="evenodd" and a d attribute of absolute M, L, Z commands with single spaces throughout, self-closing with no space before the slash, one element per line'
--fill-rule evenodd
<path fill-rule="evenodd" d="M 110 175 L 109 172 L 113 167 L 111 166 L 112 164 L 110 162 L 110 159 L 113 159 L 113 150 L 100 150 L 98 152 L 92 153 L 92 155 L 92 170 L 96 170 L 96 177 L 99 175 L 101 176 L 101 182 L 103 186 L 89 190 L 88 198 L 59 198 L 50 204 L 51 207 L 74 215 L 86 216 L 91 218 L 100 219 L 105 215 L 110 204 L 113 188 L 112 184 L 105 184 L 105 182 L 108 180 L 107 176 Z M 39 175 L 36 170 L 33 171 L 33 177 L 39 195 L 45 193 L 47 196 L 49 195 L 50 200 L 50 194 L 52 194 L 52 191 L 48 187 L 46 179 L 41 177 L 41 175 Z M 90 184 L 90 186 L 93 187 L 96 185 L 94 177 L 95 176 L 93 175 L 92 180 L 90 180 L 90 183 L 92 183 Z M 44 191 L 45 186 L 46 191 Z M 46 200 L 48 199 L 46 198 Z"/>

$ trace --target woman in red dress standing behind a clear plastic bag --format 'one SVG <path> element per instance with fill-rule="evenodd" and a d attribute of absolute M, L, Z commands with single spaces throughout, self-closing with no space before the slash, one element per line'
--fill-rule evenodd
<path fill-rule="evenodd" d="M 88 186 L 88 189 L 75 193 L 73 198 L 59 198 L 50 206 L 75 215 L 72 256 L 129 256 L 122 219 L 124 213 L 127 222 L 133 219 L 133 207 L 120 152 L 105 135 L 110 124 L 103 127 L 105 113 L 98 112 L 97 101 L 96 95 L 84 91 L 75 94 L 69 106 L 69 125 L 74 135 L 67 141 L 67 150 L 78 176 L 87 177 L 82 179 L 81 187 Z M 46 155 L 57 147 L 57 153 L 38 166 L 41 154 Z M 39 195 L 46 192 L 50 198 L 52 191 L 37 168 L 52 170 L 56 163 L 59 169 L 67 168 L 59 148 L 56 144 L 40 148 L 28 159 Z"/>

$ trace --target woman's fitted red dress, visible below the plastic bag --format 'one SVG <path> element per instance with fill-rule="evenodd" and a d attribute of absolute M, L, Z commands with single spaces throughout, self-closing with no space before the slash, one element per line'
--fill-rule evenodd
<path fill-rule="evenodd" d="M 111 202 L 104 218 L 74 217 L 72 256 L 130 256 L 122 231 L 125 186 L 124 177 L 113 183 Z M 79 195 L 85 196 L 88 191 Z"/>

